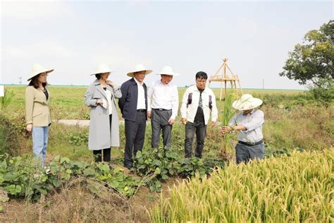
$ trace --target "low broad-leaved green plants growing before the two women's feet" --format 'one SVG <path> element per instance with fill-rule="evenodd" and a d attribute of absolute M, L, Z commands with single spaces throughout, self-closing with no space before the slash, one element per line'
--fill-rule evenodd
<path fill-rule="evenodd" d="M 12 198 L 21 197 L 27 200 L 39 200 L 41 195 L 47 195 L 54 188 L 77 176 L 85 176 L 92 193 L 96 183 L 103 183 L 109 188 L 126 196 L 135 194 L 140 186 L 140 179 L 125 176 L 123 169 L 110 169 L 109 164 L 71 161 L 67 157 L 56 156 L 49 164 L 50 173 L 39 167 L 39 162 L 31 156 L 2 156 L 0 162 L 0 187 Z"/>

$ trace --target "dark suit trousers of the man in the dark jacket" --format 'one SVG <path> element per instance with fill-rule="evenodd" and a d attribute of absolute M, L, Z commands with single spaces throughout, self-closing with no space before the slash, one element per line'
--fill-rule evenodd
<path fill-rule="evenodd" d="M 146 111 L 137 111 L 135 121 L 125 119 L 125 166 L 132 167 L 137 151 L 142 151 L 146 131 L 146 118 Z"/>

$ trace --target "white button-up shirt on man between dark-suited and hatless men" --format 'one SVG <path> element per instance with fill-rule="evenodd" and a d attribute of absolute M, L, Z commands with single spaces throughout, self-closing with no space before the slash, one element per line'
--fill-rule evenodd
<path fill-rule="evenodd" d="M 172 109 L 171 119 L 178 115 L 178 88 L 168 83 L 164 85 L 156 80 L 147 91 L 148 111 L 151 109 Z"/>

